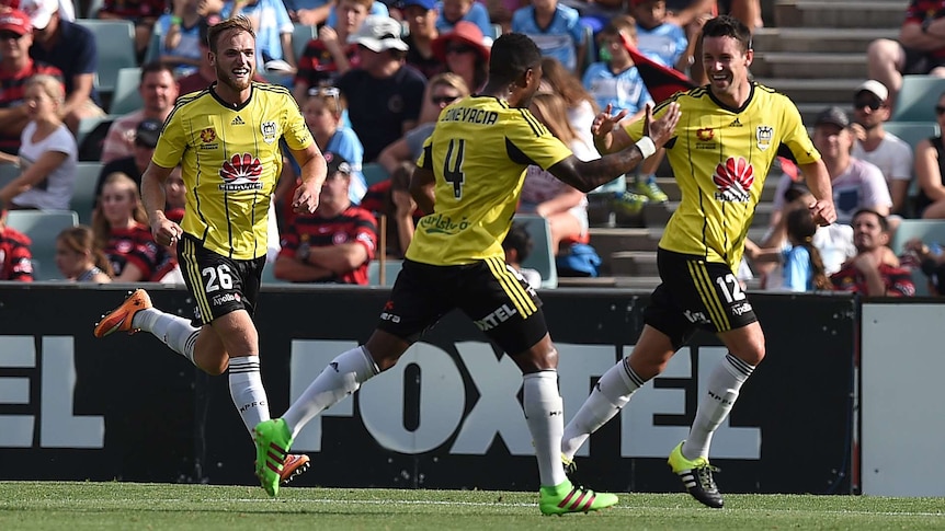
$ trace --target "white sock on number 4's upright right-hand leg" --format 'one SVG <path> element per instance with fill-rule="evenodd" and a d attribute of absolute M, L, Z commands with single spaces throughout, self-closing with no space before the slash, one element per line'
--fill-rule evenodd
<path fill-rule="evenodd" d="M 567 476 L 561 466 L 561 432 L 565 430 L 565 402 L 558 392 L 558 371 L 544 370 L 522 377 L 524 383 L 522 406 L 535 458 L 538 459 L 538 476 L 543 487 L 565 483 Z"/>

